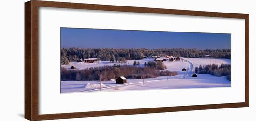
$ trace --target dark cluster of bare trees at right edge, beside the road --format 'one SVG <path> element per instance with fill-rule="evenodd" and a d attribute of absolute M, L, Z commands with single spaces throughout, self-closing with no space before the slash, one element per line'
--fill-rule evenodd
<path fill-rule="evenodd" d="M 195 68 L 195 73 L 199 74 L 211 74 L 214 76 L 227 76 L 227 79 L 231 81 L 231 65 L 230 64 L 208 64 Z"/>

